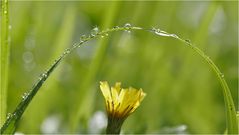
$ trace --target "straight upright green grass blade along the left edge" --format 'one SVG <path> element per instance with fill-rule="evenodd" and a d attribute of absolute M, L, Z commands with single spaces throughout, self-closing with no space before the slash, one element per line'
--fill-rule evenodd
<path fill-rule="evenodd" d="M 9 16 L 8 0 L 1 1 L 1 45 L 0 45 L 0 126 L 6 120 L 7 84 L 9 65 Z"/>

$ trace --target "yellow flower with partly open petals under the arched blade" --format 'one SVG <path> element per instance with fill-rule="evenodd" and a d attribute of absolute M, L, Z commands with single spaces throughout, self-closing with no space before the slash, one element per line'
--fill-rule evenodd
<path fill-rule="evenodd" d="M 107 133 L 119 133 L 124 120 L 135 111 L 146 95 L 142 89 L 123 89 L 120 86 L 121 83 L 117 82 L 110 88 L 106 81 L 100 82 L 108 114 Z"/>

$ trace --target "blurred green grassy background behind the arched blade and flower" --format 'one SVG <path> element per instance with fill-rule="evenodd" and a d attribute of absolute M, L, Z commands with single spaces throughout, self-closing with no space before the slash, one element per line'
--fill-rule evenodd
<path fill-rule="evenodd" d="M 201 48 L 224 73 L 238 109 L 238 2 L 10 1 L 8 112 L 38 76 L 83 34 L 123 26 L 160 28 Z M 223 133 L 222 88 L 209 66 L 183 43 L 146 32 L 115 32 L 78 48 L 45 82 L 24 113 L 18 132 L 41 133 L 47 117 L 61 118 L 59 133 L 88 133 L 104 111 L 99 81 L 147 93 L 123 125 L 124 133 Z"/>

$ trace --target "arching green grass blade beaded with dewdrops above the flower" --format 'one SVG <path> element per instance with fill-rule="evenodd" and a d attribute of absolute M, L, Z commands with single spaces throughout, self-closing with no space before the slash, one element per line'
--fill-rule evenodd
<path fill-rule="evenodd" d="M 77 44 L 74 44 L 71 48 L 66 49 L 63 54 L 50 66 L 48 70 L 46 70 L 45 73 L 43 73 L 39 80 L 33 85 L 33 87 L 30 89 L 30 91 L 23 95 L 22 101 L 18 104 L 17 108 L 13 112 L 13 114 L 10 114 L 7 118 L 6 122 L 4 123 L 3 127 L 1 128 L 1 134 L 13 134 L 16 130 L 16 126 L 18 121 L 20 120 L 22 114 L 24 113 L 25 109 L 35 96 L 35 94 L 38 92 L 38 90 L 41 88 L 43 83 L 47 80 L 49 75 L 54 71 L 54 69 L 59 65 L 59 63 L 71 52 L 73 52 L 77 47 L 81 47 L 83 43 L 92 40 L 97 37 L 103 37 L 104 35 L 108 35 L 108 33 L 114 32 L 114 31 L 131 31 L 131 30 L 143 30 L 147 32 L 154 33 L 158 36 L 166 36 L 166 37 L 172 37 L 179 41 L 182 41 L 186 43 L 190 48 L 192 48 L 199 56 L 201 56 L 213 69 L 213 71 L 216 73 L 221 86 L 223 88 L 223 96 L 224 96 L 224 102 L 226 105 L 226 118 L 227 118 L 227 131 L 229 134 L 237 134 L 238 133 L 238 127 L 237 127 L 237 117 L 236 117 L 236 110 L 235 105 L 232 100 L 231 92 L 229 90 L 229 87 L 224 79 L 224 75 L 220 72 L 218 67 L 214 64 L 214 62 L 207 56 L 203 51 L 201 51 L 199 48 L 197 48 L 195 45 L 193 45 L 189 40 L 184 40 L 180 37 L 178 37 L 175 34 L 170 34 L 165 31 L 162 31 L 160 29 L 144 29 L 141 27 L 133 27 L 130 24 L 126 24 L 124 27 L 114 27 L 112 29 L 107 29 L 105 31 L 93 31 L 89 36 L 82 36 L 81 41 Z"/>

